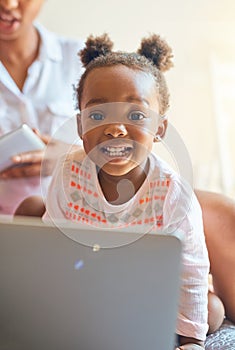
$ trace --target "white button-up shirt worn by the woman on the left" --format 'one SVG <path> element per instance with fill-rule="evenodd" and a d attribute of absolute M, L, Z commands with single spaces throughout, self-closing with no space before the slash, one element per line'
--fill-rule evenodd
<path fill-rule="evenodd" d="M 83 42 L 58 36 L 39 24 L 36 28 L 41 38 L 40 51 L 28 69 L 22 91 L 0 61 L 0 136 L 22 123 L 41 134 L 53 135 L 67 118 L 75 115 L 74 85 L 82 73 L 77 53 Z M 76 126 L 73 131 L 76 133 Z M 63 136 L 68 142 L 75 138 Z M 44 189 L 49 180 L 43 179 Z M 0 179 L 0 214 L 12 214 L 24 198 L 34 194 L 41 194 L 39 177 Z"/>

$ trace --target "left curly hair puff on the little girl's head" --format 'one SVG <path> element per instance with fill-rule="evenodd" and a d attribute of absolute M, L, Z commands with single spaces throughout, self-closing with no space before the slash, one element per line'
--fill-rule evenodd
<path fill-rule="evenodd" d="M 87 38 L 85 48 L 79 52 L 83 66 L 86 67 L 96 57 L 105 56 L 110 53 L 113 48 L 113 42 L 107 33 L 94 37 L 90 35 Z"/>

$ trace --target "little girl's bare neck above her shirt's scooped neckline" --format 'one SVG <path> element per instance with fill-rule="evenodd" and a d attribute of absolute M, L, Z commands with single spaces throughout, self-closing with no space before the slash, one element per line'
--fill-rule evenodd
<path fill-rule="evenodd" d="M 106 200 L 114 205 L 128 202 L 144 183 L 148 170 L 149 160 L 123 176 L 113 176 L 100 169 L 98 179 Z"/>

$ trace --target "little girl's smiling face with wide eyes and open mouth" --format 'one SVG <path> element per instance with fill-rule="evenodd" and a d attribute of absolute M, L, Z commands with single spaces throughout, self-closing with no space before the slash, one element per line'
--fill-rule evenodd
<path fill-rule="evenodd" d="M 149 110 L 157 120 L 158 94 L 150 74 L 122 65 L 88 74 L 78 130 L 86 153 L 104 172 L 122 176 L 145 169 L 158 130 L 147 117 Z"/>

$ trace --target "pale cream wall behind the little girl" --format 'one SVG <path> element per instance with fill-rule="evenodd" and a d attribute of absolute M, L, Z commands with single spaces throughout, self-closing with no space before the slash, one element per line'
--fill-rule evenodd
<path fill-rule="evenodd" d="M 48 0 L 40 21 L 75 38 L 108 32 L 117 50 L 136 50 L 143 36 L 161 34 L 175 56 L 175 67 L 166 73 L 168 117 L 189 151 L 194 184 L 223 190 L 211 56 L 235 62 L 234 16 L 234 0 Z"/>

